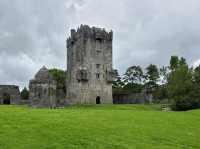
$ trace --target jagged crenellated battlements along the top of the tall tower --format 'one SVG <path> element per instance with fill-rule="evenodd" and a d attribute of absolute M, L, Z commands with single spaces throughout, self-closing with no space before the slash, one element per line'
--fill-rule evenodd
<path fill-rule="evenodd" d="M 113 32 L 107 32 L 105 29 L 102 28 L 81 25 L 77 30 L 71 29 L 71 35 L 67 39 L 67 47 L 73 45 L 80 38 L 83 38 L 84 40 L 93 39 L 101 41 L 112 41 Z"/>

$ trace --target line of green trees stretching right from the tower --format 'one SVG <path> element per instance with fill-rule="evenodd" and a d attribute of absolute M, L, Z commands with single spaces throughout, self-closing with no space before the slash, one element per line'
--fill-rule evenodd
<path fill-rule="evenodd" d="M 135 93 L 146 90 L 154 103 L 169 103 L 173 110 L 200 107 L 200 65 L 189 67 L 185 58 L 171 56 L 169 66 L 150 64 L 145 71 L 140 66 L 129 67 L 117 77 L 113 88 Z"/>

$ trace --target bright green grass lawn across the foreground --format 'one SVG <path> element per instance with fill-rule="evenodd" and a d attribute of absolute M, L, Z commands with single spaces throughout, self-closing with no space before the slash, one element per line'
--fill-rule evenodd
<path fill-rule="evenodd" d="M 159 105 L 0 106 L 0 149 L 200 149 L 200 110 Z"/>

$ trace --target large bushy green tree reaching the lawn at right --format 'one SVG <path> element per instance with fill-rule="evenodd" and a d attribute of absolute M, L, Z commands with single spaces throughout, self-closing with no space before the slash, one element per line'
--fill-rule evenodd
<path fill-rule="evenodd" d="M 189 110 L 198 107 L 194 98 L 193 71 L 184 59 L 174 69 L 168 79 L 168 95 L 173 110 Z M 195 87 L 196 88 L 196 87 Z"/>

